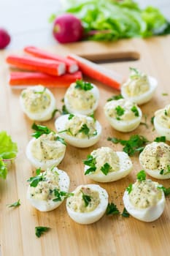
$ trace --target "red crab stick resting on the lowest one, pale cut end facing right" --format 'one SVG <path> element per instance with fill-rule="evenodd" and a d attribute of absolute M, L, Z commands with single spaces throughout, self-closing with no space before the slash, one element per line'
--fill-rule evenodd
<path fill-rule="evenodd" d="M 20 69 L 45 72 L 50 75 L 63 75 L 66 72 L 66 64 L 61 61 L 18 55 L 9 55 L 6 60 L 8 64 Z"/>

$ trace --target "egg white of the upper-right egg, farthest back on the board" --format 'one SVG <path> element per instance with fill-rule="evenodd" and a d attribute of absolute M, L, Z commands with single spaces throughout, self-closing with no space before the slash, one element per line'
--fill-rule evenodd
<path fill-rule="evenodd" d="M 133 102 L 136 102 L 137 105 L 142 105 L 146 102 L 149 102 L 150 99 L 152 99 L 153 94 L 155 93 L 155 89 L 158 86 L 158 81 L 155 78 L 148 77 L 149 83 L 150 83 L 150 89 L 149 91 L 145 91 L 143 94 L 140 94 L 138 96 L 130 97 L 125 92 L 125 86 L 121 87 L 121 94 L 123 98 L 125 99 L 131 99 Z"/>

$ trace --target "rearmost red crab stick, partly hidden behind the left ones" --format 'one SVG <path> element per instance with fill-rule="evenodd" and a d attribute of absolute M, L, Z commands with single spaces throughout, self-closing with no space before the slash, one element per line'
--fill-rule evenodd
<path fill-rule="evenodd" d="M 66 71 L 69 73 L 74 73 L 79 69 L 76 61 L 64 58 L 57 54 L 47 53 L 45 50 L 41 50 L 34 46 L 27 46 L 26 48 L 24 48 L 24 51 L 26 53 L 30 53 L 30 54 L 32 54 L 36 57 L 42 58 L 42 59 L 53 59 L 56 61 L 61 61 L 66 64 Z"/>

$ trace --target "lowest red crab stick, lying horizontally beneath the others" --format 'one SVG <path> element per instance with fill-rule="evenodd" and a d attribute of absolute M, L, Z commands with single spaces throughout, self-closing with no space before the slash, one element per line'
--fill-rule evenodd
<path fill-rule="evenodd" d="M 82 72 L 80 71 L 74 72 L 74 74 L 66 73 L 61 76 L 47 75 L 40 72 L 10 72 L 9 85 L 15 89 L 37 84 L 47 87 L 68 87 L 70 83 L 80 79 L 82 79 Z"/>

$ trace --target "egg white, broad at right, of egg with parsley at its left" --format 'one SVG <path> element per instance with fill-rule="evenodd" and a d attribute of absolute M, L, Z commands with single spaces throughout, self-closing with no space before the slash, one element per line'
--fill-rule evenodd
<path fill-rule="evenodd" d="M 133 164 L 131 162 L 131 159 L 128 157 L 128 154 L 125 152 L 117 151 L 116 152 L 117 157 L 119 157 L 119 163 L 120 163 L 120 170 L 112 171 L 107 173 L 107 175 L 104 175 L 101 171 L 98 173 L 89 173 L 88 176 L 93 181 L 98 182 L 112 182 L 117 181 L 120 178 L 124 178 L 128 175 L 128 173 L 131 173 L 131 170 L 133 168 Z M 88 170 L 89 166 L 85 165 L 85 171 Z"/>

